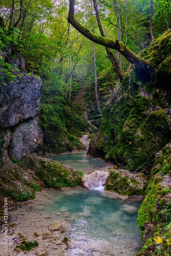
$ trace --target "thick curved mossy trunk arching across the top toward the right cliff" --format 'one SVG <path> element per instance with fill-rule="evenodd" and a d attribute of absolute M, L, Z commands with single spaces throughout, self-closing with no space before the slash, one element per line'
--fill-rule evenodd
<path fill-rule="evenodd" d="M 147 60 L 144 60 L 133 53 L 128 47 L 126 47 L 123 42 L 116 40 L 112 40 L 110 38 L 105 38 L 99 35 L 92 33 L 89 29 L 82 26 L 75 18 L 74 18 L 74 9 L 75 9 L 75 0 L 70 0 L 70 9 L 69 9 L 69 17 L 68 22 L 77 29 L 82 35 L 89 38 L 91 41 L 96 42 L 99 45 L 104 47 L 108 47 L 114 50 L 119 51 L 127 60 L 131 63 L 135 64 L 138 70 L 141 70 L 145 73 L 149 73 L 151 76 L 152 68 L 149 65 Z M 148 72 L 149 71 L 149 72 Z M 137 72 L 138 73 L 138 72 Z"/>

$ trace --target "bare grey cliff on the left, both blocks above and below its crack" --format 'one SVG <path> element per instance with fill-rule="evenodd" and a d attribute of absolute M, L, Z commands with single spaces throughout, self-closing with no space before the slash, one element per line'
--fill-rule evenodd
<path fill-rule="evenodd" d="M 15 59 L 16 68 L 23 61 Z M 17 77 L 15 72 L 15 76 Z M 34 75 L 17 77 L 7 82 L 0 92 L 0 149 L 1 164 L 9 156 L 23 159 L 27 153 L 40 152 L 42 132 L 37 125 L 36 115 L 40 106 L 41 79 Z"/>

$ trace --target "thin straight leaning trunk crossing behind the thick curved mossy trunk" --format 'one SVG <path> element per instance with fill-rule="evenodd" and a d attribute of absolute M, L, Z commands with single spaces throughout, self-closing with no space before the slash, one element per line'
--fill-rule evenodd
<path fill-rule="evenodd" d="M 97 24 L 98 24 L 98 27 L 99 27 L 99 30 L 100 30 L 100 34 L 101 34 L 101 36 L 105 37 L 104 31 L 103 31 L 103 28 L 102 28 L 102 25 L 101 25 L 101 21 L 100 21 L 100 16 L 99 16 L 96 0 L 93 0 L 93 3 L 94 3 L 94 8 L 95 8 L 95 12 L 96 12 L 96 19 L 97 19 Z M 117 77 L 122 81 L 123 74 L 122 74 L 122 71 L 120 70 L 120 68 L 118 66 L 118 62 L 117 62 L 115 56 L 113 55 L 113 53 L 112 53 L 110 48 L 105 47 L 105 50 L 106 50 L 106 52 L 108 54 L 107 57 L 112 62 L 112 66 L 113 66 L 114 72 L 117 74 Z"/>

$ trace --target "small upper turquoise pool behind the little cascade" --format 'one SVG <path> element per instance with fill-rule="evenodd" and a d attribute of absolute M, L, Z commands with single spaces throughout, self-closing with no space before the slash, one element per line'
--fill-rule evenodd
<path fill-rule="evenodd" d="M 80 151 L 45 157 L 66 165 L 70 165 L 78 170 L 81 170 L 82 172 L 93 172 L 93 170 L 112 167 L 112 165 L 106 163 L 104 159 L 88 156 L 86 154 L 87 151 Z"/>

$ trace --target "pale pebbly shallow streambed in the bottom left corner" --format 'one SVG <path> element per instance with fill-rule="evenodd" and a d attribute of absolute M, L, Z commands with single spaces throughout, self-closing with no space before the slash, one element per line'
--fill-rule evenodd
<path fill-rule="evenodd" d="M 16 202 L 8 209 L 8 253 L 4 252 L 3 239 L 1 239 L 0 255 L 62 255 L 70 244 L 66 235 L 70 225 L 63 220 L 63 218 L 66 219 L 67 212 L 61 208 L 53 216 L 48 216 L 44 212 L 45 207 L 42 206 L 51 200 L 55 191 L 53 188 L 44 189 L 43 192 L 36 193 L 36 199 Z M 34 245 L 35 248 L 28 251 L 28 248 Z M 27 250 L 23 251 L 22 248 Z"/>

